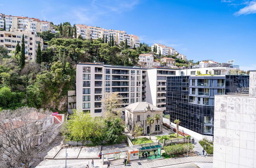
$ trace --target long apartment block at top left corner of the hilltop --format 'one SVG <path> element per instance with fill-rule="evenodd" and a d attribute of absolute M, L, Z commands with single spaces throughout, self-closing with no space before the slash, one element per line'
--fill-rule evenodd
<path fill-rule="evenodd" d="M 41 21 L 36 18 L 12 16 L 0 13 L 0 29 L 4 29 L 6 24 L 6 30 L 12 29 L 16 32 L 45 32 L 51 31 L 51 24 L 49 21 Z"/>

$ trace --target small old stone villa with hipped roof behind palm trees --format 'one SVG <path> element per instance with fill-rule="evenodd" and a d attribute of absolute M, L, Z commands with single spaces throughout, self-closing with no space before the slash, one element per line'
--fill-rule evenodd
<path fill-rule="evenodd" d="M 160 116 L 159 121 L 154 119 L 154 116 Z M 147 118 L 152 117 L 154 123 L 147 123 Z M 125 107 L 125 125 L 127 130 L 133 133 L 136 125 L 143 129 L 143 134 L 162 133 L 163 125 L 163 110 L 148 102 L 137 102 Z"/>

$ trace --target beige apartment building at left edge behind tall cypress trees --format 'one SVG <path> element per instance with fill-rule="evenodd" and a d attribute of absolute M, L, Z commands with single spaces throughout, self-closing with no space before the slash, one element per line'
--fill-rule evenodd
<path fill-rule="evenodd" d="M 17 43 L 21 47 L 23 35 L 25 40 L 25 58 L 27 61 L 35 61 L 38 43 L 41 44 L 41 49 L 43 46 L 43 41 L 37 36 L 36 32 L 0 31 L 0 45 L 6 47 L 9 55 L 11 55 L 11 51 L 15 51 Z"/>

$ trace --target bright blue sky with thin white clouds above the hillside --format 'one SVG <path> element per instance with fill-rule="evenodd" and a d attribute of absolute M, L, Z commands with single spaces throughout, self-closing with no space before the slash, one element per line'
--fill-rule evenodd
<path fill-rule="evenodd" d="M 256 69 L 256 0 L 0 1 L 0 13 L 124 30 L 189 60 Z"/>

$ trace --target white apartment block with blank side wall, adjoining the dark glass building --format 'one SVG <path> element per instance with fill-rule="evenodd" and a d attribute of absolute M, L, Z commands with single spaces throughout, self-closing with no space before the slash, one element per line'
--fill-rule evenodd
<path fill-rule="evenodd" d="M 177 69 L 148 68 L 146 71 L 146 102 L 166 110 L 166 77 L 175 76 Z"/>

